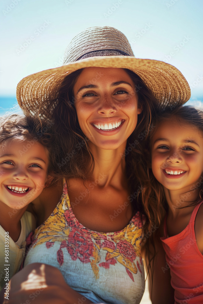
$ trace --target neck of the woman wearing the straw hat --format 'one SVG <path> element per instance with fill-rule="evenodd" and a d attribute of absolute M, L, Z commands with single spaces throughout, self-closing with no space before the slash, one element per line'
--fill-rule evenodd
<path fill-rule="evenodd" d="M 115 150 L 104 150 L 91 143 L 89 148 L 94 157 L 92 179 L 99 179 L 101 187 L 124 185 L 126 178 L 125 157 L 123 155 L 126 142 Z"/>

